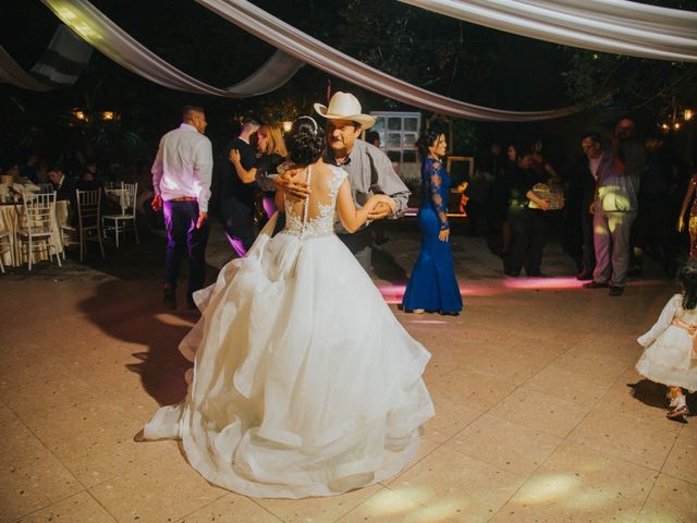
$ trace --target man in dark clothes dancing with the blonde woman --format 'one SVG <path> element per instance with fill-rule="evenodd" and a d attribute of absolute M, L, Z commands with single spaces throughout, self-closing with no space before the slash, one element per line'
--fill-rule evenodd
<path fill-rule="evenodd" d="M 229 151 L 234 149 L 240 153 L 240 163 L 247 171 L 256 163 L 254 147 L 249 144 L 249 139 L 258 130 L 257 121 L 247 118 L 242 123 L 240 135 L 228 145 Z M 254 177 L 250 180 L 245 178 L 229 160 L 220 187 L 220 218 L 228 240 L 240 257 L 244 257 L 255 239 L 255 187 Z"/>

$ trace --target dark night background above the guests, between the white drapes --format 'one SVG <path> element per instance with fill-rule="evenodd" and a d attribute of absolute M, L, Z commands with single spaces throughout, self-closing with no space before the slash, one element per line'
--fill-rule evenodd
<path fill-rule="evenodd" d="M 189 0 L 93 0 L 125 32 L 176 68 L 225 87 L 259 68 L 273 48 Z M 472 104 L 543 110 L 580 104 L 582 113 L 528 124 L 454 121 L 454 153 L 472 156 L 491 138 L 519 143 L 541 137 L 552 161 L 579 154 L 578 133 L 607 129 L 623 113 L 650 131 L 674 108 L 697 100 L 697 65 L 634 59 L 567 48 L 466 24 L 393 0 L 256 0 L 256 5 L 337 49 L 418 86 Z M 655 1 L 695 9 L 690 1 Z M 46 49 L 59 20 L 38 0 L 11 0 L 2 9 L 0 41 L 26 70 Z M 124 70 L 98 51 L 68 89 L 30 93 L 0 85 L 0 159 L 32 150 L 49 161 L 80 149 L 102 162 L 150 161 L 160 135 L 180 121 L 181 107 L 207 109 L 213 147 L 221 154 L 235 120 L 253 113 L 282 121 L 325 101 L 327 84 L 350 90 L 364 110 L 414 108 L 370 94 L 309 65 L 282 88 L 243 100 L 170 90 Z M 117 111 L 119 122 L 76 122 L 86 113 Z M 428 113 L 426 113 L 428 117 Z M 675 133 L 689 160 L 694 122 Z"/>

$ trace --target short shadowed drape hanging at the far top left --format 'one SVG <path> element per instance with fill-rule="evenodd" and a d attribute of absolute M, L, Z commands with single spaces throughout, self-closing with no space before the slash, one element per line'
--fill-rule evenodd
<path fill-rule="evenodd" d="M 47 92 L 73 85 L 89 61 L 91 47 L 68 26 L 60 25 L 46 51 L 27 73 L 0 46 L 0 83 Z"/>

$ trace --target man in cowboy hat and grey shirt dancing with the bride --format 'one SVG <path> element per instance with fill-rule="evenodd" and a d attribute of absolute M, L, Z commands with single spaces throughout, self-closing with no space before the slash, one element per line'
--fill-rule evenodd
<path fill-rule="evenodd" d="M 394 206 L 379 204 L 368 215 L 369 220 L 396 218 L 406 209 L 409 191 L 392 168 L 392 161 L 377 147 L 359 139 L 364 129 L 375 124 L 375 118 L 363 114 L 360 102 L 350 93 L 337 92 L 329 107 L 315 104 L 315 111 L 327 119 L 327 151 L 325 161 L 340 166 L 348 173 L 348 182 L 354 202 L 364 205 L 372 194 L 386 194 L 394 200 Z M 277 187 L 296 196 L 306 195 L 302 183 L 293 182 L 290 177 L 279 177 Z M 367 270 L 371 267 L 372 240 L 366 227 L 348 234 L 341 224 L 337 233 L 351 250 L 356 259 Z"/>

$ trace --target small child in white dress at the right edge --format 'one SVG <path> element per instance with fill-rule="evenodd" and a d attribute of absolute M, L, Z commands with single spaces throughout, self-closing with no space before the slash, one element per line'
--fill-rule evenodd
<path fill-rule="evenodd" d="M 697 390 L 697 263 L 685 265 L 677 281 L 683 293 L 671 297 L 651 330 L 637 339 L 646 350 L 636 369 L 668 386 L 671 419 L 689 414 L 683 389 Z"/>

